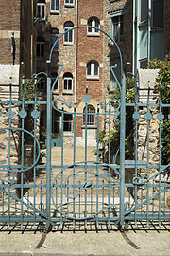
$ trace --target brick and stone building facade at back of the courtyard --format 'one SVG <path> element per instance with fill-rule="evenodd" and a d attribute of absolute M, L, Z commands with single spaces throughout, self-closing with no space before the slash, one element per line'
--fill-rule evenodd
<path fill-rule="evenodd" d="M 99 27 L 114 37 L 123 54 L 123 61 L 132 59 L 132 4 L 131 1 L 107 0 L 60 0 L 38 1 L 37 11 L 40 20 L 37 30 L 37 71 L 46 71 L 46 60 L 54 43 L 69 27 L 92 26 Z M 128 24 L 131 24 L 129 29 Z M 115 30 L 113 32 L 113 27 Z M 130 31 L 130 33 L 129 33 Z M 127 42 L 127 44 L 125 44 Z M 59 72 L 59 64 L 63 64 L 63 70 L 59 76 L 58 84 L 54 90 L 54 97 L 68 102 L 76 102 L 76 111 L 83 113 L 85 104 L 82 102 L 85 96 L 86 86 L 91 102 L 88 111 L 97 111 L 97 103 L 109 101 L 111 93 L 117 84 L 110 73 L 110 66 L 117 64 L 115 73 L 119 82 L 120 56 L 117 49 L 110 42 L 110 38 L 102 31 L 94 28 L 82 27 L 73 30 L 68 36 L 63 35 L 59 44 L 54 47 L 52 58 L 52 81 Z M 45 91 L 45 78 L 42 82 L 42 91 Z M 61 104 L 58 107 L 61 108 Z M 73 109 L 72 109 L 73 110 Z M 72 137 L 73 118 L 65 115 L 64 134 Z M 96 119 L 90 118 L 88 135 L 94 141 L 96 132 Z M 45 123 L 45 110 L 42 110 L 42 125 Z M 76 119 L 76 137 L 84 137 L 83 117 Z M 101 129 L 104 119 L 100 120 Z M 59 137 L 60 117 L 54 112 L 53 134 Z"/>

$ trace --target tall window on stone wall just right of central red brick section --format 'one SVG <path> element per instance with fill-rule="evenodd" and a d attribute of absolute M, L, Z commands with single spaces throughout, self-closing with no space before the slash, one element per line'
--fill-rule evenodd
<path fill-rule="evenodd" d="M 112 37 L 119 43 L 123 40 L 124 33 L 124 16 L 117 15 L 111 18 L 112 22 Z"/>

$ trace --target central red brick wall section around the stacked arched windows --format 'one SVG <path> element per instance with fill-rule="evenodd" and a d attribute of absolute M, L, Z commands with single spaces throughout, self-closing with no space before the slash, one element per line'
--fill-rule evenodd
<path fill-rule="evenodd" d="M 91 17 L 96 17 L 100 21 L 104 19 L 103 0 L 84 0 L 78 2 L 78 26 L 82 26 L 82 19 L 88 21 Z M 100 28 L 103 26 L 100 24 Z M 87 80 L 86 66 L 84 65 L 91 60 L 103 64 L 103 33 L 100 32 L 100 37 L 87 36 L 87 28 L 78 29 L 78 44 L 77 44 L 77 84 L 76 84 L 76 105 L 78 106 L 85 96 L 86 86 L 88 86 L 88 95 L 96 102 L 103 101 L 103 68 L 99 68 L 99 80 Z M 91 104 L 91 102 L 89 103 Z M 97 110 L 95 109 L 95 112 Z M 83 124 L 82 117 L 79 117 L 76 122 L 77 137 L 82 136 L 81 126 Z"/>

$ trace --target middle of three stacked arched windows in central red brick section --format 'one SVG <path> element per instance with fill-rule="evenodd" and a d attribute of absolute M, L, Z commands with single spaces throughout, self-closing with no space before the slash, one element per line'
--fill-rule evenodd
<path fill-rule="evenodd" d="M 96 61 L 90 61 L 87 64 L 86 70 L 86 77 L 87 79 L 99 79 L 99 64 Z"/>

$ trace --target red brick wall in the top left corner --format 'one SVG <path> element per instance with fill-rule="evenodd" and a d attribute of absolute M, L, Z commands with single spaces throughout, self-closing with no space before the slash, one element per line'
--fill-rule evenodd
<path fill-rule="evenodd" d="M 0 1 L 0 30 L 20 31 L 21 0 Z M 15 39 L 16 53 L 15 64 L 19 64 L 20 40 Z M 0 64 L 13 64 L 11 55 L 11 38 L 0 37 Z"/>

